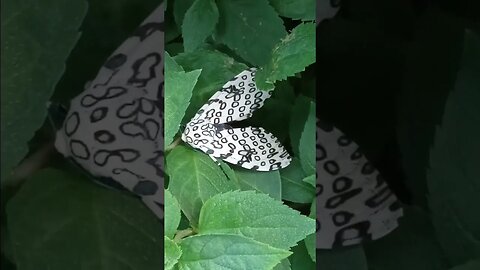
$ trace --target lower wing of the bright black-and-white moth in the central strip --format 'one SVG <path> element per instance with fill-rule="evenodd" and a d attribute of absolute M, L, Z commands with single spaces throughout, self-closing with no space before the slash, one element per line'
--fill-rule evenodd
<path fill-rule="evenodd" d="M 221 156 L 215 158 L 256 171 L 285 168 L 292 158 L 273 134 L 260 127 L 228 128 L 221 132 Z"/>

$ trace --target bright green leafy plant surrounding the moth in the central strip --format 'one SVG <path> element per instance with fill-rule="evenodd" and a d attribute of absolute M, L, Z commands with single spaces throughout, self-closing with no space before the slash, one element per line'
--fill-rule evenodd
<path fill-rule="evenodd" d="M 315 62 L 314 23 L 282 19 L 267 0 L 172 1 L 168 6 L 170 202 L 165 202 L 165 222 L 174 233 L 165 238 L 165 268 L 293 269 L 301 266 L 289 259 L 306 256 L 312 266 L 302 269 L 314 269 L 314 238 L 307 236 L 315 232 L 315 212 L 307 215 L 315 198 L 315 101 L 314 91 L 298 87 L 312 76 L 305 69 Z M 252 66 L 259 68 L 257 85 L 275 89 L 243 124 L 264 127 L 294 153 L 292 164 L 280 171 L 219 166 L 179 138 L 182 127 L 223 84 Z M 305 109 L 292 114 L 295 106 Z M 180 212 L 188 225 L 179 225 Z M 292 249 L 306 247 L 305 241 L 310 252 Z"/>

